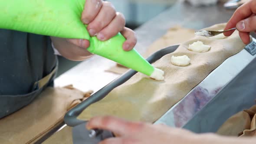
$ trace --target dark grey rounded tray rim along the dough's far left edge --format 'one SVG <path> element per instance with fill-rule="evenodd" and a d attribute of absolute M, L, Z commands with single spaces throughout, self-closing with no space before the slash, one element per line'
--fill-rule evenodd
<path fill-rule="evenodd" d="M 155 52 L 153 55 L 148 57 L 147 61 L 150 63 L 156 62 L 158 59 L 161 59 L 161 57 L 174 52 L 179 45 L 175 46 L 169 46 L 165 49 L 161 49 L 158 52 Z M 67 125 L 71 127 L 75 127 L 79 124 L 83 124 L 85 121 L 81 121 L 77 119 L 77 117 L 82 113 L 82 111 L 85 110 L 89 105 L 100 101 L 101 99 L 105 98 L 106 95 L 108 95 L 109 92 L 111 92 L 114 88 L 118 87 L 119 85 L 125 83 L 130 79 L 133 75 L 135 75 L 137 72 L 134 70 L 129 70 L 128 72 L 124 73 L 114 81 L 110 82 L 108 85 L 100 89 L 98 92 L 87 98 L 85 101 L 82 101 L 79 105 L 72 108 L 70 111 L 68 111 L 64 117 L 64 121 Z"/>

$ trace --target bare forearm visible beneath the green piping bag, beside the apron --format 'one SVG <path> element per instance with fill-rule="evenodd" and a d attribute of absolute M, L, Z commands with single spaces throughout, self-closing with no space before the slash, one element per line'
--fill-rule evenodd
<path fill-rule="evenodd" d="M 59 53 L 66 59 L 72 61 L 82 61 L 92 56 L 85 48 L 78 47 L 66 39 L 51 37 L 53 46 L 59 51 Z"/>

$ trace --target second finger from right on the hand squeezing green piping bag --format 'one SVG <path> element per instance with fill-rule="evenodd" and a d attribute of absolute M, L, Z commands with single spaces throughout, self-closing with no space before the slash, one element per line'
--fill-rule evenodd
<path fill-rule="evenodd" d="M 116 13 L 115 18 L 112 20 L 111 23 L 109 23 L 108 26 L 106 26 L 104 29 L 102 29 L 98 35 L 97 38 L 105 41 L 113 36 L 117 35 L 120 31 L 122 31 L 125 27 L 125 17 L 121 13 Z"/>

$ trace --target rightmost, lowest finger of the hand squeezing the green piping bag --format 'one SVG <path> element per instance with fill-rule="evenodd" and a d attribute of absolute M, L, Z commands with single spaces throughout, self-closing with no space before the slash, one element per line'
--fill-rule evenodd
<path fill-rule="evenodd" d="M 121 34 L 126 38 L 125 43 L 123 44 L 123 49 L 129 51 L 133 49 L 137 43 L 137 37 L 133 30 L 125 27 Z"/>

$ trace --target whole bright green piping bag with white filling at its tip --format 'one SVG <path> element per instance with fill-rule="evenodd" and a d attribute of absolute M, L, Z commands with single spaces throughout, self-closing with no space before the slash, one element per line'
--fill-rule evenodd
<path fill-rule="evenodd" d="M 135 49 L 126 52 L 120 33 L 107 41 L 91 37 L 81 21 L 85 0 L 0 0 L 0 28 L 68 39 L 88 39 L 88 51 L 111 59 L 151 78 L 162 80 L 155 69 Z M 159 77 L 160 76 L 160 77 Z"/>

